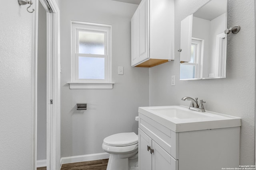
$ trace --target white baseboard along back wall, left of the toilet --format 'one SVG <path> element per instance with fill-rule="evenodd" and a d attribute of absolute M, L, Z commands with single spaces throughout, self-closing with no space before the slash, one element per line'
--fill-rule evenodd
<path fill-rule="evenodd" d="M 85 162 L 91 160 L 100 160 L 100 159 L 108 159 L 109 153 L 96 153 L 96 154 L 85 154 L 85 155 L 78 155 L 78 156 L 68 156 L 60 158 L 60 164 L 69 164 L 75 162 Z"/>

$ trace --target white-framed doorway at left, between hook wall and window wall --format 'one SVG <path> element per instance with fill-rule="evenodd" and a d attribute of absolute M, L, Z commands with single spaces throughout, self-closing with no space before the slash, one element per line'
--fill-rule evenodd
<path fill-rule="evenodd" d="M 56 0 L 34 0 L 34 6 L 34 167 L 59 170 L 60 11 Z"/>

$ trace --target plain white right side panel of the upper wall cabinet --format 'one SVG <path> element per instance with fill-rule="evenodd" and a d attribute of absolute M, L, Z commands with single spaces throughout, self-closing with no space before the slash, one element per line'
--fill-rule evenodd
<path fill-rule="evenodd" d="M 150 0 L 150 59 L 174 60 L 174 0 Z"/>

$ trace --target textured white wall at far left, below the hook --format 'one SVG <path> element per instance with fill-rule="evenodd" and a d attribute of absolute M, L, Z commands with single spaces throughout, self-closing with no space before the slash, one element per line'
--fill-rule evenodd
<path fill-rule="evenodd" d="M 37 2 L 34 1 L 34 4 Z M 33 17 L 0 6 L 0 169 L 33 168 Z"/>

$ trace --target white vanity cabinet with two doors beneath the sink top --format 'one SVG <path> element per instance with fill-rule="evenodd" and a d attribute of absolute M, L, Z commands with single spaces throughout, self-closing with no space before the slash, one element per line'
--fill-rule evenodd
<path fill-rule="evenodd" d="M 174 132 L 139 113 L 138 135 L 139 170 L 239 167 L 240 126 Z"/>

